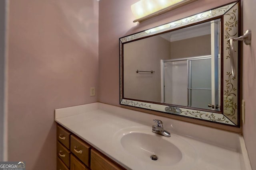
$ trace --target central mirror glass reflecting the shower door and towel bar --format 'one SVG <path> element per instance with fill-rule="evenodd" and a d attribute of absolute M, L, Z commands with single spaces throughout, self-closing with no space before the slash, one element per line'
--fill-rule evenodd
<path fill-rule="evenodd" d="M 219 111 L 219 47 L 220 19 L 124 44 L 124 98 Z"/>

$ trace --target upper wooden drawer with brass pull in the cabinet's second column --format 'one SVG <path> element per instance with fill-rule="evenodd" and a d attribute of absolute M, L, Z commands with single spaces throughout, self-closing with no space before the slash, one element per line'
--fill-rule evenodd
<path fill-rule="evenodd" d="M 70 150 L 76 155 L 86 166 L 90 167 L 90 149 L 91 147 L 81 141 L 74 135 L 70 137 Z"/>

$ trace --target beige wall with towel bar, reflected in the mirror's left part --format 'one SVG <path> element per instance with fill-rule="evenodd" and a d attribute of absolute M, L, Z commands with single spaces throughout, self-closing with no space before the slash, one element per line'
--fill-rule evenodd
<path fill-rule="evenodd" d="M 161 102 L 160 60 L 169 58 L 170 42 L 160 36 L 124 44 L 124 97 Z"/>

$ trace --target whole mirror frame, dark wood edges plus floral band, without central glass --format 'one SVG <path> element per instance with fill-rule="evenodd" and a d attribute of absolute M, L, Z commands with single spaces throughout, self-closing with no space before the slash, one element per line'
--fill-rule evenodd
<path fill-rule="evenodd" d="M 221 97 L 220 111 L 209 109 L 198 109 L 194 107 L 178 106 L 172 104 L 164 104 L 159 102 L 150 102 L 144 100 L 136 100 L 124 97 L 124 54 L 123 48 L 125 43 L 130 43 L 147 37 L 160 35 L 170 31 L 178 30 L 184 27 L 189 27 L 206 21 L 221 19 Z M 161 29 L 162 28 L 162 29 Z M 152 31 L 152 29 L 158 31 Z M 238 37 L 240 35 L 240 2 L 233 2 L 212 10 L 201 12 L 181 20 L 173 21 L 159 27 L 148 29 L 139 33 L 134 33 L 119 39 L 120 42 L 120 104 L 132 107 L 139 107 L 161 113 L 178 115 L 182 117 L 190 117 L 193 119 L 200 119 L 214 123 L 220 123 L 233 127 L 240 127 L 240 102 L 241 102 L 241 57 L 240 56 L 240 43 L 236 42 L 236 69 L 238 70 L 237 78 L 232 78 L 230 75 L 230 54 L 228 38 Z M 228 100 L 228 96 L 232 97 L 232 101 Z M 166 111 L 167 109 L 178 110 L 177 112 Z M 230 108 L 230 112 L 224 113 L 224 108 Z"/>

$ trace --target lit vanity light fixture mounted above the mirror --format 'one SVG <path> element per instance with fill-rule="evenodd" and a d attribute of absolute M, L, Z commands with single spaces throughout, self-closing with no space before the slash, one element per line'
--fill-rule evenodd
<path fill-rule="evenodd" d="M 141 22 L 197 0 L 140 0 L 132 4 L 133 22 Z"/>

